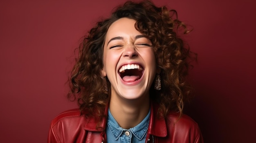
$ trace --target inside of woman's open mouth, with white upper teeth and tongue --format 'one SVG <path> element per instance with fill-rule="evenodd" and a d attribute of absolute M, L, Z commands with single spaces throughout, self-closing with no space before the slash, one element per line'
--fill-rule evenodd
<path fill-rule="evenodd" d="M 139 80 L 143 75 L 143 68 L 139 64 L 126 64 L 119 69 L 119 75 L 125 82 Z"/>

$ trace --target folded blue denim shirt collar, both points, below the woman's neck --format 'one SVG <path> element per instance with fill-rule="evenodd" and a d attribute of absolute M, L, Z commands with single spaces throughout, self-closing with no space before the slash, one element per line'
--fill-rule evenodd
<path fill-rule="evenodd" d="M 143 139 L 143 136 L 145 136 L 148 130 L 149 117 L 150 117 L 150 110 L 147 116 L 138 125 L 129 129 L 129 131 L 132 132 L 132 134 L 139 140 Z M 119 136 L 121 136 L 122 132 L 126 130 L 119 126 L 115 118 L 110 113 L 109 109 L 108 109 L 107 125 L 110 131 L 112 132 L 113 136 L 115 137 L 115 140 L 117 140 Z"/>

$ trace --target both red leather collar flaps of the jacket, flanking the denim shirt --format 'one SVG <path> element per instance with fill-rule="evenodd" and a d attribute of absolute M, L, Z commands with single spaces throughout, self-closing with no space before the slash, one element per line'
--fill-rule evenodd
<path fill-rule="evenodd" d="M 159 137 L 167 136 L 167 127 L 166 127 L 165 119 L 157 117 L 157 111 L 159 106 L 156 103 L 151 102 L 150 107 L 151 107 L 151 110 L 150 110 L 150 121 L 148 125 L 148 134 L 151 134 L 153 136 L 159 136 Z M 108 116 L 108 105 L 106 106 L 105 114 Z M 98 121 L 99 119 L 97 118 L 88 117 L 88 119 L 86 119 L 85 121 L 84 129 L 88 131 L 95 131 L 95 132 L 105 131 L 107 118 L 103 118 L 103 120 L 99 122 L 98 128 L 96 128 Z"/>

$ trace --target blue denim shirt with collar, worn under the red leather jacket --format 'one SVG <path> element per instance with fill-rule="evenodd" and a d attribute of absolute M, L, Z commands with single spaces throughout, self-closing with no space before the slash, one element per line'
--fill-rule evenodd
<path fill-rule="evenodd" d="M 106 127 L 108 143 L 145 143 L 148 131 L 150 110 L 147 116 L 135 127 L 128 130 L 119 126 L 108 109 L 108 121 Z"/>

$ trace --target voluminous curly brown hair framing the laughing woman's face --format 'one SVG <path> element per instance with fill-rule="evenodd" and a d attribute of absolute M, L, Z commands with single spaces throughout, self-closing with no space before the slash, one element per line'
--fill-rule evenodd
<path fill-rule="evenodd" d="M 83 37 L 78 48 L 79 56 L 71 72 L 68 97 L 78 101 L 85 116 L 97 114 L 104 117 L 106 104 L 110 101 L 110 91 L 106 92 L 104 86 L 107 82 L 110 89 L 110 82 L 101 75 L 103 45 L 109 26 L 120 18 L 136 20 L 135 28 L 153 44 L 162 89 L 157 91 L 151 86 L 150 98 L 159 103 L 159 117 L 166 117 L 170 111 L 180 112 L 181 116 L 184 101 L 191 91 L 185 77 L 191 66 L 189 61 L 196 55 L 184 46 L 179 33 L 187 34 L 190 31 L 177 19 L 175 10 L 156 7 L 149 0 L 128 1 L 115 8 L 110 18 L 97 22 Z"/>

